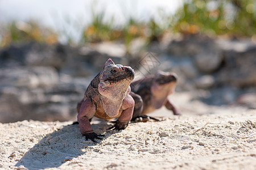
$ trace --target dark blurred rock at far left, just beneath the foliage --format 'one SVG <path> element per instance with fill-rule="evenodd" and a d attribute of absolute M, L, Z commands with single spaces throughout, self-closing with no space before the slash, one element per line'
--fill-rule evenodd
<path fill-rule="evenodd" d="M 67 58 L 65 49 L 60 44 L 11 45 L 0 53 L 0 66 L 51 66 L 59 70 Z"/>

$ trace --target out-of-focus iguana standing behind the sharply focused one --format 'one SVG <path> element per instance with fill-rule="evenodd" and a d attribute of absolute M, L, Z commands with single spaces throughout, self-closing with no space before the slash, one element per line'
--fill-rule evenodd
<path fill-rule="evenodd" d="M 157 120 L 146 116 L 146 114 L 161 108 L 163 105 L 175 115 L 179 115 L 180 113 L 172 101 L 168 99 L 168 96 L 175 90 L 176 82 L 177 75 L 175 73 L 163 71 L 132 82 L 130 95 L 135 101 L 132 120 L 134 121 L 139 117 Z"/>

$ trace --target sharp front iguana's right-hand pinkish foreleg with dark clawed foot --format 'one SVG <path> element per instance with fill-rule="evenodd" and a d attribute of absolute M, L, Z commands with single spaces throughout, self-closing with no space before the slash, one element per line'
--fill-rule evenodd
<path fill-rule="evenodd" d="M 123 99 L 122 109 L 123 109 L 123 112 L 118 117 L 118 120 L 113 121 L 112 123 L 114 123 L 114 125 L 109 129 L 123 130 L 128 126 L 129 122 L 131 121 L 131 118 L 133 117 L 133 109 L 134 109 L 133 97 L 131 97 L 130 95 L 127 95 L 125 99 Z"/>

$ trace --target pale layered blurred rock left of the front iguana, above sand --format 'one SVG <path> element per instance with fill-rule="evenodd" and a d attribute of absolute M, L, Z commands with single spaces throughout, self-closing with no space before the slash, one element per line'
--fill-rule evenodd
<path fill-rule="evenodd" d="M 28 81 L 31 75 L 35 82 Z M 59 80 L 51 67 L 6 68 L 0 78 L 0 122 L 75 121 L 76 104 L 91 80 L 63 75 Z"/>

